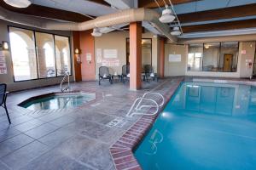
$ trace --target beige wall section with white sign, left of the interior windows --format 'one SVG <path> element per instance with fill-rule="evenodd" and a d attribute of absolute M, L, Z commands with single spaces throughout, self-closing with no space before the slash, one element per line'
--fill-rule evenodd
<path fill-rule="evenodd" d="M 165 77 L 185 75 L 187 50 L 186 45 L 165 44 Z M 169 62 L 169 54 L 181 54 L 181 62 Z"/>

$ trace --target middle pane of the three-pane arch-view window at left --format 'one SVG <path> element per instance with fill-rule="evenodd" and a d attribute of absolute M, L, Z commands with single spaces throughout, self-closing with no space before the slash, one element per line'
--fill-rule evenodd
<path fill-rule="evenodd" d="M 36 32 L 39 78 L 55 77 L 55 46 L 51 34 Z"/>

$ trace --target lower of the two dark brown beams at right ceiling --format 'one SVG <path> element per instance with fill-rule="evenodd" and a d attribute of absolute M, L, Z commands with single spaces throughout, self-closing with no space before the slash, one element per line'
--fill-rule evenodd
<path fill-rule="evenodd" d="M 241 28 L 256 27 L 256 19 L 252 20 L 236 20 L 230 22 L 205 24 L 198 26 L 183 26 L 183 33 L 200 32 L 200 31 L 221 31 L 221 30 L 236 30 Z"/>

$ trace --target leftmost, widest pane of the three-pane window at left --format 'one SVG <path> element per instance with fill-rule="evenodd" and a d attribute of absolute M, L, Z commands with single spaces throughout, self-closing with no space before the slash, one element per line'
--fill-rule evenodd
<path fill-rule="evenodd" d="M 15 81 L 38 78 L 33 31 L 9 28 L 9 39 Z"/>

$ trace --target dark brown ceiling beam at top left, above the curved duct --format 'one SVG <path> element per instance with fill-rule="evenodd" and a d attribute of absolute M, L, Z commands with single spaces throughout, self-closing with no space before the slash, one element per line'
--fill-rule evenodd
<path fill-rule="evenodd" d="M 55 20 L 67 20 L 73 22 L 83 22 L 87 20 L 91 20 L 89 17 L 84 16 L 83 14 L 78 14 L 66 10 L 61 10 L 57 8 L 49 8 L 36 4 L 31 4 L 27 8 L 15 8 L 3 1 L 0 1 L 0 6 L 6 8 L 10 11 L 20 13 L 20 14 L 29 14 L 38 17 L 44 17 Z"/>

